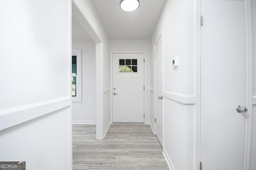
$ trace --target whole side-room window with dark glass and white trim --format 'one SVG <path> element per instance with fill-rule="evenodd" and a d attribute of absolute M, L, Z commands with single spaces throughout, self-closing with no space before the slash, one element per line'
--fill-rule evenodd
<path fill-rule="evenodd" d="M 72 50 L 72 102 L 82 102 L 81 50 Z"/>

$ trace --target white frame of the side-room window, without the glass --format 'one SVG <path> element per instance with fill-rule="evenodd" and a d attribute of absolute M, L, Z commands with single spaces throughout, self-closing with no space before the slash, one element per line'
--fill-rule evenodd
<path fill-rule="evenodd" d="M 76 77 L 76 96 L 72 96 L 72 103 L 81 103 L 82 102 L 82 59 L 81 59 L 81 49 L 73 49 L 72 56 L 76 56 L 76 76 L 72 75 L 71 71 L 71 79 L 72 77 Z M 72 65 L 71 65 L 72 67 Z M 72 70 L 72 69 L 71 69 Z M 72 86 L 71 86 L 72 87 Z M 71 89 L 72 90 L 72 89 Z"/>

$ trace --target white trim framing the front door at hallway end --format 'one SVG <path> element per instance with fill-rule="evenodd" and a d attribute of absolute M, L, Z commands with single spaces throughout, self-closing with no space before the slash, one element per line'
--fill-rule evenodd
<path fill-rule="evenodd" d="M 144 123 L 140 123 L 140 124 L 146 124 L 147 123 L 147 114 L 148 113 L 145 113 L 146 111 L 146 87 L 145 87 L 145 82 L 147 81 L 146 80 L 146 77 L 147 77 L 147 52 L 146 51 L 110 51 L 110 123 L 113 124 L 113 73 L 112 73 L 112 54 L 113 53 L 143 53 L 144 54 Z M 116 124 L 116 123 L 115 123 Z M 123 124 L 123 123 L 122 123 Z M 129 123 L 130 124 L 130 123 Z M 136 123 L 138 124 L 138 123 Z"/>

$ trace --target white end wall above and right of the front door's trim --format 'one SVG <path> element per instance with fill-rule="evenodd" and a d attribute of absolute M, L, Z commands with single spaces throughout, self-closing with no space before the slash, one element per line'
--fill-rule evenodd
<path fill-rule="evenodd" d="M 110 51 L 146 51 L 145 123 L 150 123 L 150 40 L 110 40 Z"/>

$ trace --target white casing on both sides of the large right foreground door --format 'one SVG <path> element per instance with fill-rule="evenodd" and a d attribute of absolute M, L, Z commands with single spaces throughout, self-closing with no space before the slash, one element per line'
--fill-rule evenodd
<path fill-rule="evenodd" d="M 200 169 L 201 161 L 201 0 L 196 0 L 196 150 L 194 170 Z M 246 27 L 246 107 L 244 167 L 250 170 L 252 144 L 252 96 L 253 96 L 253 42 L 252 42 L 252 3 L 244 0 Z"/>

